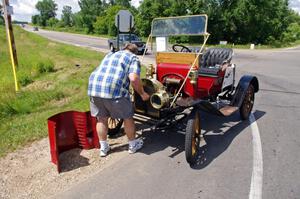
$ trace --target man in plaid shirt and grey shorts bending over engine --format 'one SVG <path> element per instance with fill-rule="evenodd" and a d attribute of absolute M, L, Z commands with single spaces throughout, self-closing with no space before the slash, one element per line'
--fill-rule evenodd
<path fill-rule="evenodd" d="M 91 115 L 97 117 L 97 133 L 100 140 L 100 156 L 110 150 L 107 142 L 108 118 L 124 120 L 124 130 L 128 137 L 130 154 L 142 148 L 143 140 L 136 139 L 134 110 L 129 95 L 129 85 L 141 96 L 149 100 L 140 79 L 141 66 L 135 44 L 127 44 L 123 50 L 108 53 L 101 64 L 91 73 L 88 84 Z"/>

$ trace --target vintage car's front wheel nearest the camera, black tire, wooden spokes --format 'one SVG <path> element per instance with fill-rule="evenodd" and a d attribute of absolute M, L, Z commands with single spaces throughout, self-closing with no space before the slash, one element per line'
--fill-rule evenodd
<path fill-rule="evenodd" d="M 195 122 L 199 122 L 198 132 L 196 132 Z M 195 151 L 193 152 L 193 140 L 195 141 Z M 189 115 L 186 133 L 185 133 L 185 157 L 186 161 L 193 165 L 197 162 L 198 150 L 200 147 L 201 140 L 201 121 L 200 121 L 200 113 L 197 110 L 193 110 Z"/>

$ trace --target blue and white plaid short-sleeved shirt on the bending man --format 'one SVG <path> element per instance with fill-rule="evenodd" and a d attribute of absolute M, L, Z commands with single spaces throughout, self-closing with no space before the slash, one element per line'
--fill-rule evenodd
<path fill-rule="evenodd" d="M 130 73 L 140 75 L 138 57 L 127 50 L 107 54 L 90 75 L 88 95 L 107 99 L 129 97 Z"/>

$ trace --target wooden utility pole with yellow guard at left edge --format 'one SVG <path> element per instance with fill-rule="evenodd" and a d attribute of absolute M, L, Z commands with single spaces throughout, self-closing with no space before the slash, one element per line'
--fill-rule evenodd
<path fill-rule="evenodd" d="M 9 5 L 9 0 L 3 0 L 3 11 L 4 11 L 4 19 L 5 19 L 5 27 L 6 27 L 6 35 L 9 47 L 9 53 L 11 57 L 11 63 L 14 73 L 14 80 L 15 80 L 15 89 L 16 92 L 19 91 L 19 84 L 17 79 L 17 67 L 18 67 L 18 58 L 17 58 L 17 50 L 16 44 L 14 39 L 13 27 L 12 27 L 12 6 Z"/>

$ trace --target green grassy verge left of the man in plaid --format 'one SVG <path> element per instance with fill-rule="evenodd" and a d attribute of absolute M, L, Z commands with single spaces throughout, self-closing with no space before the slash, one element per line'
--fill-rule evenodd
<path fill-rule="evenodd" d="M 103 58 L 95 51 L 49 41 L 19 27 L 14 33 L 19 93 L 14 90 L 5 30 L 0 26 L 0 157 L 46 137 L 47 118 L 53 114 L 87 111 L 88 77 Z"/>

